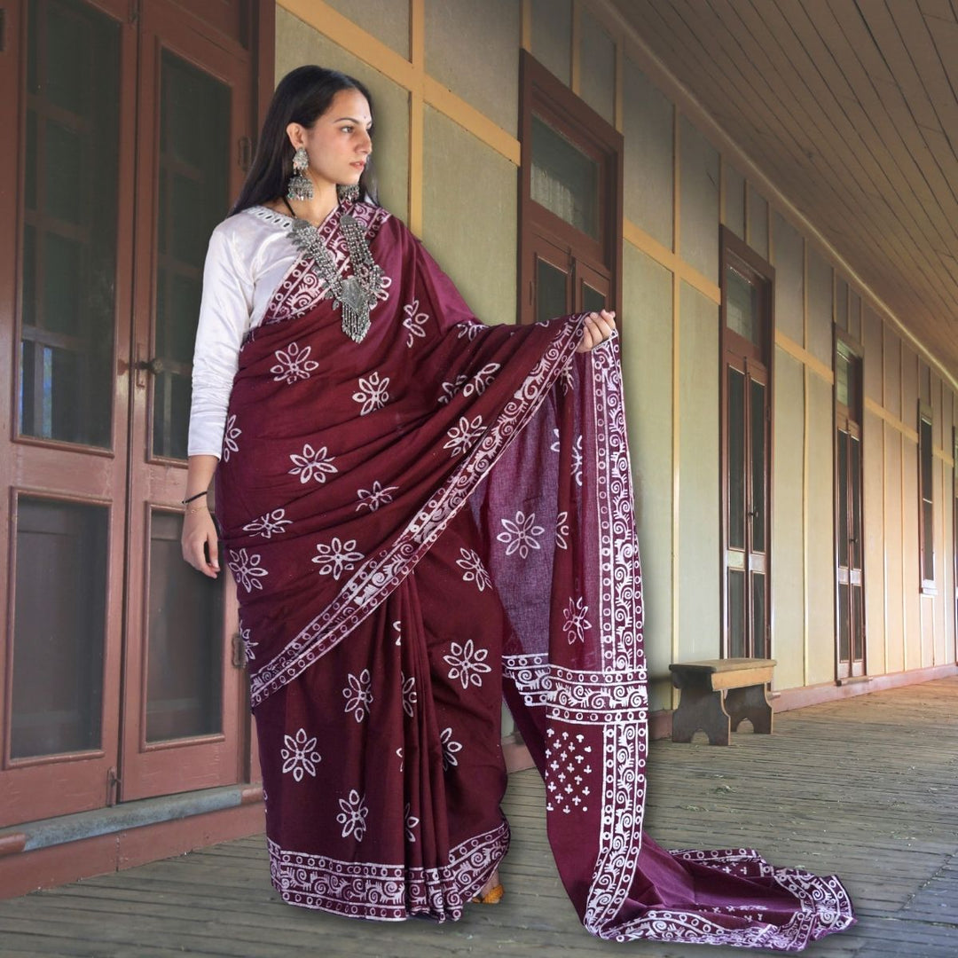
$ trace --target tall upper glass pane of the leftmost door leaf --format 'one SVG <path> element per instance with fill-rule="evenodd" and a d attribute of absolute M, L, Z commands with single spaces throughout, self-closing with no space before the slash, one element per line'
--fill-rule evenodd
<path fill-rule="evenodd" d="M 33 0 L 27 29 L 18 427 L 109 446 L 120 26 Z"/>

